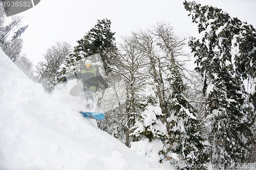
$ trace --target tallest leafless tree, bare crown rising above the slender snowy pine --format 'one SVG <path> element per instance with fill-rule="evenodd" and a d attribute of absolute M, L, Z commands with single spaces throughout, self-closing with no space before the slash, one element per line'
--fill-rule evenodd
<path fill-rule="evenodd" d="M 165 119 L 163 122 L 166 121 L 166 118 L 169 116 L 167 113 L 167 106 L 165 101 L 165 93 L 169 93 L 168 86 L 165 87 L 167 82 L 165 82 L 166 78 L 170 74 L 168 72 L 168 67 L 172 66 L 175 68 L 176 71 L 180 71 L 183 73 L 183 78 L 186 78 L 183 70 L 186 70 L 183 65 L 184 61 L 187 60 L 187 54 L 184 53 L 183 48 L 186 45 L 186 38 L 178 37 L 173 30 L 173 27 L 170 26 L 169 23 L 165 22 L 158 22 L 157 26 L 154 27 L 152 31 L 152 35 L 155 36 L 155 48 L 158 49 L 158 57 L 157 57 L 157 64 L 159 67 L 159 74 L 158 77 L 160 84 L 162 85 L 162 99 L 163 99 L 163 113 L 165 114 Z M 165 77 L 162 76 L 165 75 Z M 183 84 L 183 82 L 181 82 Z M 179 87 L 177 87 L 179 88 Z"/>

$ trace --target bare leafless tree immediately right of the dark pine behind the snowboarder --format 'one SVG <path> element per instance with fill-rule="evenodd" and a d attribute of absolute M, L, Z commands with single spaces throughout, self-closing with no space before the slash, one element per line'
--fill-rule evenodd
<path fill-rule="evenodd" d="M 138 48 L 137 33 L 132 33 L 131 37 L 123 38 L 120 44 L 118 69 L 114 72 L 122 76 L 125 91 L 125 111 L 126 117 L 125 132 L 127 146 L 130 145 L 130 128 L 134 124 L 134 114 L 138 111 L 137 103 L 139 101 L 138 91 L 145 83 L 147 76 L 147 58 Z"/>

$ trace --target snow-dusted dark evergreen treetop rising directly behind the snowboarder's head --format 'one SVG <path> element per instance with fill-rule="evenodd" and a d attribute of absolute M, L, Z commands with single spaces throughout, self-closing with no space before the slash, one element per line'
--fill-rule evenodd
<path fill-rule="evenodd" d="M 78 40 L 78 45 L 74 47 L 74 53 L 70 55 L 71 64 L 73 60 L 79 61 L 84 57 L 100 54 L 106 72 L 112 70 L 115 65 L 117 47 L 115 43 L 115 33 L 111 31 L 111 21 L 101 19 L 82 39 Z"/>

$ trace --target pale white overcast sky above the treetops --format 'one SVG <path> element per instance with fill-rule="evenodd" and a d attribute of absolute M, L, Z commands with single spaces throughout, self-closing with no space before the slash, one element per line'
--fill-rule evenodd
<path fill-rule="evenodd" d="M 221 8 L 231 17 L 238 17 L 256 28 L 255 0 L 196 0 L 203 5 Z M 47 48 L 56 42 L 67 41 L 72 46 L 96 25 L 97 19 L 112 21 L 115 36 L 127 36 L 132 31 L 145 30 L 158 21 L 170 22 L 182 35 L 197 36 L 197 25 L 191 23 L 181 0 L 41 0 L 23 16 L 29 25 L 22 35 L 23 53 L 34 65 L 43 59 Z"/>

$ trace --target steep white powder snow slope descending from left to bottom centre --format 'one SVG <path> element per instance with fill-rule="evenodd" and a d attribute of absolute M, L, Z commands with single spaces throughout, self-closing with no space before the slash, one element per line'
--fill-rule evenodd
<path fill-rule="evenodd" d="M 152 169 L 83 118 L 67 85 L 49 95 L 1 48 L 0 61 L 0 169 Z"/>

